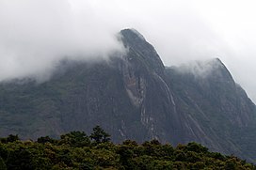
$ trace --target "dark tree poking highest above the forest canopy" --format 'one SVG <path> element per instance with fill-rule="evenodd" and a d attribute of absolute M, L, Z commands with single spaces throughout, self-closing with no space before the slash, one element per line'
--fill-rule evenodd
<path fill-rule="evenodd" d="M 109 142 L 110 134 L 105 132 L 100 126 L 96 126 L 92 130 L 93 132 L 90 134 L 90 139 L 94 140 L 97 144 Z"/>

